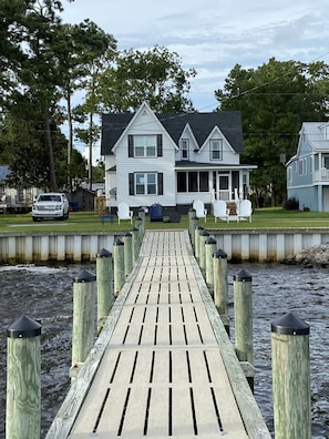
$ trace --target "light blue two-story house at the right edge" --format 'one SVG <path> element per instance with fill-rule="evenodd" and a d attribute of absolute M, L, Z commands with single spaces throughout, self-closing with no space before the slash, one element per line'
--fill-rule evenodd
<path fill-rule="evenodd" d="M 297 153 L 286 164 L 287 196 L 299 210 L 329 212 L 329 123 L 304 122 Z"/>

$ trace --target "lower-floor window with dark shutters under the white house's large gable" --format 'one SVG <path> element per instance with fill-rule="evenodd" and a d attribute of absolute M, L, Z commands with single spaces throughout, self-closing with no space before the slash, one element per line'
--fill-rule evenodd
<path fill-rule="evenodd" d="M 131 173 L 128 184 L 130 195 L 163 195 L 163 173 Z"/>

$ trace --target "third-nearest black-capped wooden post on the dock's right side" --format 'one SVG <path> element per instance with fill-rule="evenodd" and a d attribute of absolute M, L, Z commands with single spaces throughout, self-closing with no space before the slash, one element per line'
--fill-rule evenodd
<path fill-rule="evenodd" d="M 228 318 L 228 283 L 227 283 L 227 254 L 223 249 L 214 253 L 214 303 L 227 334 L 229 334 Z"/>

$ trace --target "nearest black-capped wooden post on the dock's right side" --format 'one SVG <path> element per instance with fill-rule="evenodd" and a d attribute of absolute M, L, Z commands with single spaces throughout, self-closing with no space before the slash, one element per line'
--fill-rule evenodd
<path fill-rule="evenodd" d="M 271 323 L 276 439 L 311 438 L 309 333 L 291 313 Z"/>

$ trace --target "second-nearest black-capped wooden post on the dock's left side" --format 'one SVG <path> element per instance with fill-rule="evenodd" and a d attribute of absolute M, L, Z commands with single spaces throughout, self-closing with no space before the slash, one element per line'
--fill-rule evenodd
<path fill-rule="evenodd" d="M 73 283 L 72 381 L 94 343 L 96 276 L 85 269 Z"/>

